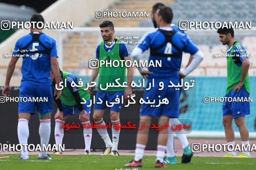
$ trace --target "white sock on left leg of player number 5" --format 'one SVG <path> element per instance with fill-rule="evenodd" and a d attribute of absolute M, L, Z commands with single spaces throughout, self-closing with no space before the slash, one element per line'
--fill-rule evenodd
<path fill-rule="evenodd" d="M 25 119 L 25 118 L 19 118 L 19 122 L 18 122 L 18 138 L 19 138 L 19 142 L 20 144 L 28 144 L 28 138 L 29 138 L 29 120 Z M 28 156 L 28 147 L 22 148 L 21 151 L 22 156 Z"/>

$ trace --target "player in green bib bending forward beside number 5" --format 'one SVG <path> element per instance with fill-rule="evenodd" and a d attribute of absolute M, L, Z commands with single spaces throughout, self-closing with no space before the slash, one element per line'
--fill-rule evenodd
<path fill-rule="evenodd" d="M 85 86 L 77 87 L 76 84 L 78 83 L 77 76 L 65 72 L 60 71 L 61 73 L 61 80 L 63 81 L 63 90 L 61 93 L 60 98 L 55 99 L 56 104 L 58 105 L 57 113 L 55 114 L 55 142 L 56 145 L 62 144 L 62 139 L 64 136 L 64 128 L 62 124 L 65 123 L 66 119 L 69 115 L 73 115 L 75 112 L 79 113 L 79 120 L 83 124 L 83 135 L 84 135 L 84 142 L 85 142 L 85 153 L 84 154 L 91 154 L 90 153 L 90 146 L 91 146 L 91 137 L 92 137 L 92 128 L 90 125 L 90 113 L 91 107 L 87 106 L 87 100 L 90 100 L 90 94 L 84 89 Z M 53 82 L 53 87 L 55 88 L 55 81 L 54 81 L 54 74 L 51 71 L 50 74 Z M 66 84 L 65 84 L 66 82 Z M 82 104 L 81 101 L 86 103 Z M 56 150 L 55 154 L 62 154 L 61 150 Z"/>

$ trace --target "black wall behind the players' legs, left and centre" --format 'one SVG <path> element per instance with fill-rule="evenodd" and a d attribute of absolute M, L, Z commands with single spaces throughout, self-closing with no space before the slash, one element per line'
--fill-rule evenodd
<path fill-rule="evenodd" d="M 0 86 L 0 92 L 2 92 L 2 87 Z M 134 92 L 136 93 L 136 97 L 142 97 L 144 93 L 144 89 L 134 89 Z M 12 96 L 19 96 L 19 87 L 12 87 L 11 90 Z M 93 95 L 96 93 L 96 91 L 93 91 Z M 127 104 L 127 103 L 125 103 Z M 93 106 L 92 106 L 93 108 Z M 51 136 L 50 136 L 50 144 L 55 144 L 55 138 L 54 138 L 54 128 L 55 128 L 55 120 L 54 120 L 54 114 L 56 113 L 57 105 L 54 103 L 53 105 L 53 114 L 51 116 Z M 18 134 L 17 134 L 17 125 L 18 125 L 18 102 L 5 102 L 0 103 L 0 143 L 11 143 L 11 144 L 18 144 Z M 120 122 L 121 124 L 126 124 L 128 121 L 132 121 L 131 125 L 133 123 L 136 123 L 140 127 L 140 103 L 136 103 L 133 106 L 129 107 L 123 107 L 120 112 Z M 92 119 L 92 110 L 90 114 L 90 120 Z M 106 124 L 110 122 L 110 112 L 108 109 L 106 109 L 104 113 L 104 121 Z M 65 123 L 72 124 L 72 122 L 75 122 L 77 124 L 79 121 L 78 114 L 70 115 L 69 118 L 66 120 Z M 157 124 L 157 121 L 154 121 Z M 40 136 L 39 136 L 39 118 L 38 114 L 32 115 L 30 117 L 29 121 L 29 144 L 38 144 L 40 143 Z M 109 137 L 112 137 L 111 127 L 107 128 Z M 83 129 L 77 128 L 77 129 L 64 129 L 64 138 L 63 143 L 65 144 L 65 148 L 84 148 L 84 137 L 83 137 Z M 147 149 L 156 149 L 157 146 L 157 131 L 151 130 L 149 136 L 149 142 L 147 145 Z M 137 135 L 137 129 L 134 128 L 122 128 L 120 129 L 120 137 L 119 137 L 119 143 L 118 148 L 119 149 L 135 149 L 136 146 L 136 135 Z M 93 128 L 92 133 L 92 141 L 91 141 L 91 149 L 103 149 L 105 147 L 104 141 L 99 136 L 97 130 Z"/>

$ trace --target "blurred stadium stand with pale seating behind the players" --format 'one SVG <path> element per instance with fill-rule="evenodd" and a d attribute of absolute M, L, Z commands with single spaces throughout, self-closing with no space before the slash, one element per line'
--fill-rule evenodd
<path fill-rule="evenodd" d="M 219 3 L 221 1 L 221 3 Z M 205 21 L 205 20 L 215 20 L 215 21 L 251 21 L 252 26 L 255 25 L 256 19 L 256 2 L 251 0 L 238 1 L 234 3 L 232 6 L 228 5 L 232 2 L 232 0 L 161 0 L 161 2 L 168 4 L 172 7 L 174 12 L 173 23 L 178 24 L 179 20 L 190 20 L 190 21 Z M 111 20 L 115 27 L 153 27 L 150 11 L 152 5 L 156 3 L 155 0 L 108 0 L 108 4 L 98 6 L 99 3 L 92 3 L 93 8 L 86 9 L 93 11 L 91 15 L 81 16 L 81 12 L 77 12 L 72 10 L 72 13 L 75 17 L 68 17 L 66 14 L 63 16 L 58 16 L 53 10 L 58 8 L 60 11 L 64 11 L 64 9 L 68 8 L 68 3 L 66 5 L 60 4 L 60 1 L 57 1 L 48 9 L 42 12 L 46 18 L 50 18 L 50 13 L 53 16 L 56 16 L 59 20 L 73 20 L 74 26 L 80 27 L 98 27 L 98 25 L 103 20 Z M 63 3 L 63 2 L 62 2 Z M 85 3 L 82 2 L 81 3 Z M 97 4 L 97 5 L 95 5 Z M 143 7 L 142 7 L 143 6 Z M 79 6 L 77 6 L 79 9 Z M 103 17 L 103 18 L 95 18 L 94 12 L 96 10 L 107 10 L 107 11 L 148 11 L 149 17 Z M 188 10 L 189 9 L 189 10 Z M 225 9 L 225 10 L 224 10 Z M 235 12 L 239 9 L 240 12 Z M 84 10 L 84 9 L 83 9 Z M 68 12 L 63 12 L 68 13 Z M 64 18 L 64 19 L 63 19 Z M 214 19 L 213 19 L 214 18 Z M 249 18 L 249 19 L 248 19 Z M 74 20 L 75 19 L 75 20 Z M 203 32 L 203 31 L 202 31 Z M 57 38 L 57 32 L 49 32 L 52 36 Z M 199 48 L 205 55 L 205 59 L 200 64 L 200 68 L 194 70 L 192 75 L 194 76 L 225 76 L 226 75 L 226 58 L 225 57 L 216 57 L 216 54 L 225 53 L 223 49 L 225 46 L 221 45 L 219 42 L 217 34 L 207 34 L 203 33 L 198 36 L 198 34 L 190 33 L 187 31 L 188 35 L 191 37 L 196 44 L 198 44 Z M 235 32 L 236 33 L 236 32 Z M 255 32 L 254 32 L 255 33 Z M 15 37 L 18 37 L 18 33 L 16 32 L 16 36 L 9 38 L 9 44 L 6 45 L 10 49 L 15 42 Z M 25 31 L 20 35 L 25 34 Z M 142 34 L 141 34 L 142 35 Z M 140 35 L 140 37 L 141 37 Z M 88 32 L 70 32 L 63 33 L 63 67 L 72 71 L 73 73 L 80 75 L 90 75 L 90 69 L 84 69 L 88 67 L 88 60 L 93 58 L 95 55 L 95 47 L 98 42 L 101 41 L 101 36 L 99 33 L 88 33 Z M 256 35 L 252 34 L 251 31 L 245 33 L 237 33 L 235 34 L 236 40 L 241 42 L 245 47 L 246 51 L 250 57 L 250 66 L 249 74 L 256 75 L 256 67 L 255 63 L 252 59 L 253 56 L 256 55 L 256 47 L 254 47 L 252 42 L 255 42 Z M 12 42 L 11 42 L 12 41 Z M 0 44 L 0 49 L 1 49 Z M 131 50 L 135 45 L 130 45 Z M 9 50 L 10 50 L 9 49 Z M 1 50 L 0 50 L 1 51 Z M 7 51 L 7 50 L 5 50 Z M 147 54 L 147 53 L 146 53 Z M 146 56 L 145 56 L 146 58 Z M 183 55 L 182 61 L 182 69 L 186 66 L 189 55 Z M 9 59 L 4 59 L 2 63 L 0 63 L 0 76 L 4 76 L 6 72 L 6 68 L 8 65 Z M 21 62 L 19 63 L 21 64 Z M 81 69 L 83 68 L 83 69 Z M 135 75 L 139 75 L 137 69 L 135 69 Z M 16 70 L 14 76 L 15 84 L 18 85 L 19 79 L 21 78 L 20 70 Z M 3 82 L 4 83 L 4 82 Z M 3 84 L 2 84 L 3 85 Z"/>

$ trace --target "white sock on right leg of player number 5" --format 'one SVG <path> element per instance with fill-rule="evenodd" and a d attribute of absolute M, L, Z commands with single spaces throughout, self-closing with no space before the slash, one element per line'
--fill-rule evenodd
<path fill-rule="evenodd" d="M 43 144 L 47 147 L 51 134 L 51 119 L 40 119 L 39 135 L 41 138 L 41 147 Z M 43 148 L 43 147 L 42 147 Z M 47 151 L 41 151 L 41 154 L 46 155 Z"/>

